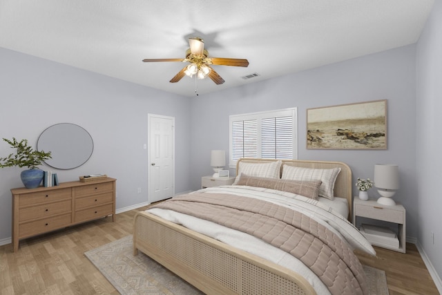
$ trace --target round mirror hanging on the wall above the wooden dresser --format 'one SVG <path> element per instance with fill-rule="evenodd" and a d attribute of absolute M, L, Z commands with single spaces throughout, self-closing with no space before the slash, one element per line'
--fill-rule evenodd
<path fill-rule="evenodd" d="M 89 160 L 94 149 L 92 137 L 82 127 L 71 123 L 55 124 L 41 133 L 38 151 L 50 151 L 51 159 L 44 161 L 57 169 L 73 169 Z"/>

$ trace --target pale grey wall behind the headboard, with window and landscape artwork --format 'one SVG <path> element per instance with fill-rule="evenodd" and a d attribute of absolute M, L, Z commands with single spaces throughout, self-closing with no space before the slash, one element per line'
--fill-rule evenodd
<path fill-rule="evenodd" d="M 210 150 L 229 151 L 229 115 L 298 107 L 298 159 L 349 164 L 353 179 L 373 178 L 374 164 L 398 164 L 407 209 L 407 236 L 417 235 L 415 46 L 268 79 L 192 100 L 192 187 L 211 175 Z M 261 73 L 265 74 L 265 73 Z M 307 150 L 307 108 L 387 99 L 387 150 Z M 235 175 L 235 171 L 231 171 Z M 356 188 L 356 187 L 355 187 Z M 357 190 L 354 190 L 354 194 Z M 369 196 L 378 198 L 375 189 Z"/>

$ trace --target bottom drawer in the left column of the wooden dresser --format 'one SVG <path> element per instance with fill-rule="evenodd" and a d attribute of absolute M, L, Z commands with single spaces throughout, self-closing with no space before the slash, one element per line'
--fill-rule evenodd
<path fill-rule="evenodd" d="M 71 213 L 61 216 L 54 216 L 49 218 L 43 218 L 32 222 L 26 222 L 19 225 L 19 238 L 26 238 L 28 236 L 34 236 L 36 234 L 46 233 L 54 229 L 60 229 L 67 227 L 71 223 Z"/>

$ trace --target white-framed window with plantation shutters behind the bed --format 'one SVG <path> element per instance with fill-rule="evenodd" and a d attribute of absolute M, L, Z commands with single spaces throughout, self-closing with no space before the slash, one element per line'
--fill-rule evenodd
<path fill-rule="evenodd" d="M 296 159 L 296 108 L 230 116 L 230 163 L 240 158 Z"/>

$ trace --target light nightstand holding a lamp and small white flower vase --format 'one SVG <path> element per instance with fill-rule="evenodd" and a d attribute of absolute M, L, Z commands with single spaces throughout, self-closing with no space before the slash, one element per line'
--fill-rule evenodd
<path fill-rule="evenodd" d="M 353 201 L 353 224 L 356 226 L 356 218 L 365 217 L 374 220 L 383 220 L 387 222 L 397 223 L 398 225 L 398 239 L 399 247 L 389 247 L 387 245 L 376 245 L 376 242 L 372 242 L 372 245 L 383 247 L 398 252 L 405 253 L 405 208 L 401 204 L 394 206 L 385 206 L 379 204 L 376 200 L 360 200 L 358 197 L 354 197 Z"/>

